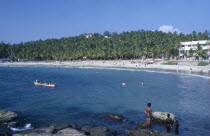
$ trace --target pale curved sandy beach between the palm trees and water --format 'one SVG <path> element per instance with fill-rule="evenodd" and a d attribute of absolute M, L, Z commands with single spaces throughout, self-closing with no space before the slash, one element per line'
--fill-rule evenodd
<path fill-rule="evenodd" d="M 163 62 L 145 64 L 137 60 L 89 60 L 89 61 L 30 61 L 30 62 L 6 62 L 0 66 L 69 66 L 75 68 L 105 68 L 105 69 L 132 69 L 140 71 L 162 71 L 172 73 L 183 73 L 210 77 L 210 66 L 193 65 L 163 65 Z"/>

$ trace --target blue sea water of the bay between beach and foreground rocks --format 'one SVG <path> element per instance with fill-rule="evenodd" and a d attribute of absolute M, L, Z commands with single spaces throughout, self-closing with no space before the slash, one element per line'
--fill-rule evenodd
<path fill-rule="evenodd" d="M 35 86 L 36 79 L 51 80 L 57 87 Z M 176 115 L 180 135 L 210 133 L 209 77 L 157 71 L 2 66 L 0 93 L 0 110 L 17 112 L 15 127 L 20 128 L 27 123 L 41 127 L 75 122 L 123 132 L 145 121 L 143 110 L 151 102 L 153 111 Z M 105 113 L 122 114 L 129 123 L 108 119 Z M 166 131 L 158 124 L 152 129 Z"/>

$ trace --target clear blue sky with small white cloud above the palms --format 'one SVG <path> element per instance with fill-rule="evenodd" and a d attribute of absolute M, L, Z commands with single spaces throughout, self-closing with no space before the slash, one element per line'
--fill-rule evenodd
<path fill-rule="evenodd" d="M 210 0 L 0 0 L 0 41 L 104 31 L 210 31 Z"/>

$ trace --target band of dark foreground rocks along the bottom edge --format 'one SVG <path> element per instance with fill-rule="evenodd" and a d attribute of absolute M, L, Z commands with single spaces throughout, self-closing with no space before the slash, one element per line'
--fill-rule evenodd
<path fill-rule="evenodd" d="M 49 127 L 22 131 L 13 136 L 174 136 L 158 131 L 148 132 L 145 128 L 145 123 L 140 123 L 134 130 L 117 134 L 116 131 L 106 127 L 84 125 L 79 128 L 76 124 L 54 124 Z"/>

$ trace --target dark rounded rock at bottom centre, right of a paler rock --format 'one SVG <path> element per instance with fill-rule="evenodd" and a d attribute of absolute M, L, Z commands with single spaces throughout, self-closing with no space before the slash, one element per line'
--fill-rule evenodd
<path fill-rule="evenodd" d="M 90 131 L 91 136 L 115 136 L 116 132 L 110 131 L 105 127 L 94 127 Z"/>

